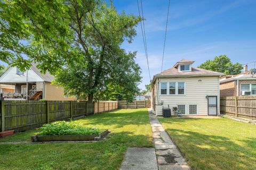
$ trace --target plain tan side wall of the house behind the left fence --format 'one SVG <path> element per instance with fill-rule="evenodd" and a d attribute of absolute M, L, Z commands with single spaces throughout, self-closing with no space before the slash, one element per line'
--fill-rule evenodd
<path fill-rule="evenodd" d="M 75 100 L 75 97 L 64 97 L 63 94 L 63 88 L 55 86 L 50 83 L 45 83 L 46 100 Z"/>

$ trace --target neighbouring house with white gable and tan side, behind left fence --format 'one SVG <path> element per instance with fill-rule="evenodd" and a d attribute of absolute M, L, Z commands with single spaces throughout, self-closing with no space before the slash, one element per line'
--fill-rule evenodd
<path fill-rule="evenodd" d="M 25 72 L 18 67 L 10 67 L 0 77 L 0 84 L 14 86 L 15 94 L 21 94 L 29 100 L 75 100 L 75 97 L 65 96 L 63 88 L 52 84 L 53 79 L 53 75 L 48 72 L 42 74 L 33 63 Z"/>

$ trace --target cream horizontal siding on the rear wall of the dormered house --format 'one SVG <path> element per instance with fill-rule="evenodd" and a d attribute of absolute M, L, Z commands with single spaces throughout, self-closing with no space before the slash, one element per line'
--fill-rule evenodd
<path fill-rule="evenodd" d="M 202 81 L 198 81 L 202 80 Z M 158 101 L 163 105 L 156 105 L 156 114 L 162 115 L 162 107 L 176 107 L 177 104 L 186 105 L 186 114 L 189 114 L 189 104 L 197 105 L 198 115 L 207 115 L 207 99 L 208 96 L 218 96 L 218 112 L 219 112 L 219 77 L 193 77 L 193 78 L 159 78 L 159 82 L 186 82 L 185 95 L 160 95 L 160 84 L 158 84 Z M 157 98 L 155 101 L 157 104 Z"/>

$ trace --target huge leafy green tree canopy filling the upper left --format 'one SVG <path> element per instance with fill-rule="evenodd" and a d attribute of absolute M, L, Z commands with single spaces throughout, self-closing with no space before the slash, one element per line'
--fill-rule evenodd
<path fill-rule="evenodd" d="M 125 40 L 131 43 L 139 21 L 118 14 L 111 1 L 1 1 L 0 59 L 21 69 L 36 62 L 57 75 L 55 83 L 67 94 L 92 101 L 110 81 L 140 81 L 135 54 L 121 48 Z"/>

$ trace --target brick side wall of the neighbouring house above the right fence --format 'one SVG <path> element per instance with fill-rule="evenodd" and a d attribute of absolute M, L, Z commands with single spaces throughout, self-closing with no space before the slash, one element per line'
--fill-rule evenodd
<path fill-rule="evenodd" d="M 236 95 L 236 83 L 234 81 L 220 84 L 220 97 Z"/>

